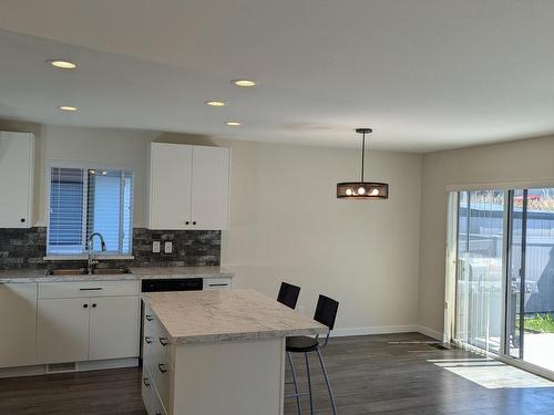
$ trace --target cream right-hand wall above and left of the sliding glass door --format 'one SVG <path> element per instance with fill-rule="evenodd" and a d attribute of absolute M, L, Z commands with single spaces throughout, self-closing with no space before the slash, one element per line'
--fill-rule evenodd
<path fill-rule="evenodd" d="M 542 180 L 554 186 L 554 137 L 423 156 L 419 323 L 443 332 L 447 186 Z"/>

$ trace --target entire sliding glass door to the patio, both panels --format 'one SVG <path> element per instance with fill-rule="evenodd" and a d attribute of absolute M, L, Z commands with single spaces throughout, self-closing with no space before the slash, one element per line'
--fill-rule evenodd
<path fill-rule="evenodd" d="M 454 340 L 554 372 L 554 188 L 455 195 Z"/>

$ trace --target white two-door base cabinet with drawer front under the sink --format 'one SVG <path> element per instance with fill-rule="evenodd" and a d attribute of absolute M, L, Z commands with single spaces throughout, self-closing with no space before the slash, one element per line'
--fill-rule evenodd
<path fill-rule="evenodd" d="M 126 281 L 126 288 L 119 284 L 115 292 L 113 284 L 102 281 L 84 288 L 78 286 L 80 282 L 58 284 L 41 287 L 39 283 L 37 363 L 138 356 L 140 298 L 136 281 Z M 82 297 L 63 298 L 71 292 L 81 292 Z M 121 295 L 125 292 L 130 295 Z"/>

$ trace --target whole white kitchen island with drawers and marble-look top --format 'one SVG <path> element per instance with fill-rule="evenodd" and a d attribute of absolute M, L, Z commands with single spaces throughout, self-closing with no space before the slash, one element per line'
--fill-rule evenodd
<path fill-rule="evenodd" d="M 255 290 L 143 294 L 148 415 L 280 415 L 285 339 L 327 328 Z"/>

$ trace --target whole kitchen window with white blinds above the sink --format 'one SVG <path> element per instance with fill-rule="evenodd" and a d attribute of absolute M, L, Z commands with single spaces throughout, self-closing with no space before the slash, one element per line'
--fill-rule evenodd
<path fill-rule="evenodd" d="M 48 256 L 79 256 L 100 232 L 106 255 L 131 255 L 133 173 L 95 167 L 50 167 Z M 101 251 L 94 238 L 94 251 Z"/>

